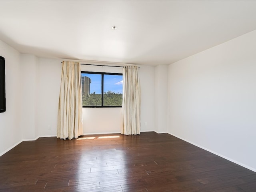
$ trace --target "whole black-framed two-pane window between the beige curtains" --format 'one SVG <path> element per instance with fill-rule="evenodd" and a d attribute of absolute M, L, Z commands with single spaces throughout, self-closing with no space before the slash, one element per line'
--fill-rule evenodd
<path fill-rule="evenodd" d="M 122 74 L 82 71 L 81 81 L 83 107 L 122 107 Z"/>

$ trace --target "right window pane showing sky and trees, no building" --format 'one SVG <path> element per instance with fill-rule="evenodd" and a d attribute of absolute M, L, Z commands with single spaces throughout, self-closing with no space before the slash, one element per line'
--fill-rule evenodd
<path fill-rule="evenodd" d="M 122 106 L 123 76 L 104 74 L 103 105 Z"/>

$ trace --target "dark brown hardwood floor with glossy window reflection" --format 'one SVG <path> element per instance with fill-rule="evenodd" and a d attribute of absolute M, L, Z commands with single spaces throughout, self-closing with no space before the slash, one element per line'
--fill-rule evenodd
<path fill-rule="evenodd" d="M 256 173 L 155 132 L 39 138 L 0 157 L 0 192 L 41 191 L 256 192 Z"/>

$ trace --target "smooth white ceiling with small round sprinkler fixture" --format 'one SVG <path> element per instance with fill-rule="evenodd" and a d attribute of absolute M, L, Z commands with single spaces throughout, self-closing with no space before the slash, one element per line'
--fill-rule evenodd
<path fill-rule="evenodd" d="M 252 30 L 256 1 L 0 0 L 0 40 L 40 57 L 171 64 Z"/>

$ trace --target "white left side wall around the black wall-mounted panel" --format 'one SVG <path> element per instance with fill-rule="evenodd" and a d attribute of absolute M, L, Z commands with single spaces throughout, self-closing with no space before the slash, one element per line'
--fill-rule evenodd
<path fill-rule="evenodd" d="M 22 140 L 20 129 L 20 53 L 0 40 L 0 56 L 5 58 L 6 112 L 0 113 L 0 156 Z"/>

